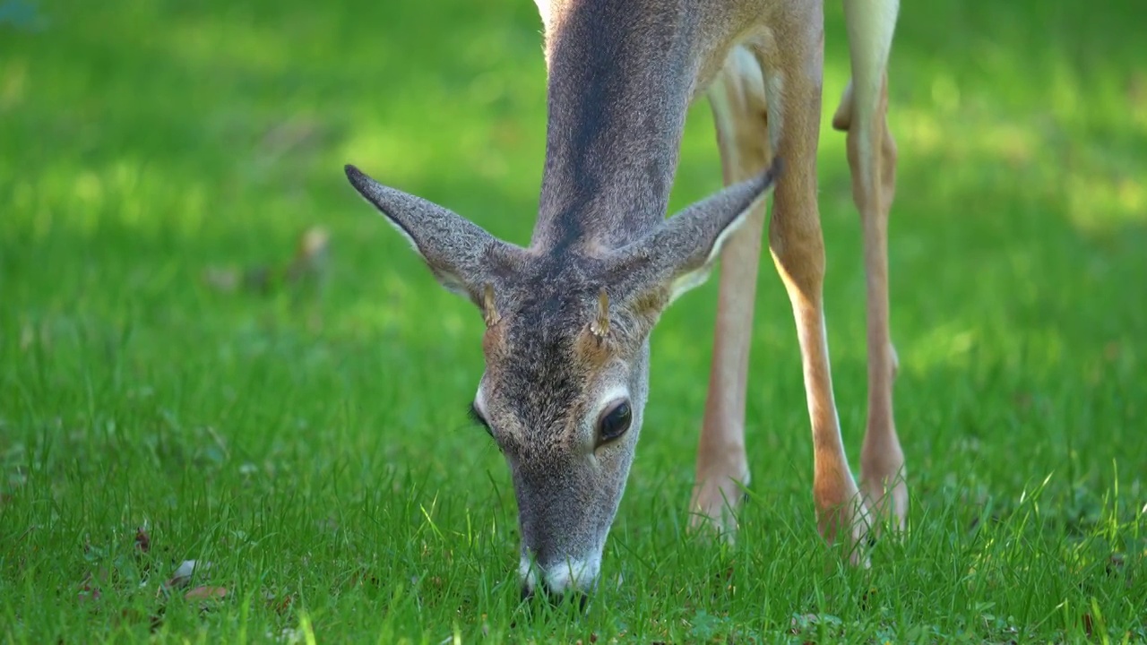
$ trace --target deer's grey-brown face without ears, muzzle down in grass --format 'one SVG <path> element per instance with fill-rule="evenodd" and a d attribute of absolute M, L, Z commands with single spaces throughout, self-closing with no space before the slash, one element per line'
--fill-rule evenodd
<path fill-rule="evenodd" d="M 473 405 L 513 475 L 526 595 L 595 583 L 648 391 L 647 326 L 571 285 L 535 278 L 502 290 Z"/>

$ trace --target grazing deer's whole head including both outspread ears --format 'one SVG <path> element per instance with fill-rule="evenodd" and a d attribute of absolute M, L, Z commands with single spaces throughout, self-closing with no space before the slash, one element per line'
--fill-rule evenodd
<path fill-rule="evenodd" d="M 482 310 L 486 370 L 473 413 L 513 475 L 524 595 L 595 586 L 641 430 L 649 333 L 670 302 L 704 281 L 777 170 L 624 247 L 556 251 L 504 242 L 346 168 L 438 281 Z"/>

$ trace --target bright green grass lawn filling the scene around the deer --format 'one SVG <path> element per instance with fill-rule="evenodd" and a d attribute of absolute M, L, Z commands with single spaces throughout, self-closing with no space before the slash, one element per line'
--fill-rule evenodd
<path fill-rule="evenodd" d="M 827 130 L 848 73 L 828 5 L 827 314 L 856 464 L 864 281 Z M 646 438 L 585 616 L 518 605 L 508 471 L 465 418 L 481 319 L 342 174 L 353 162 L 524 242 L 545 132 L 533 6 L 0 7 L 2 642 L 1147 640 L 1136 2 L 903 8 L 890 252 L 910 537 L 853 570 L 817 536 L 799 356 L 766 262 L 740 541 L 684 531 L 712 281 L 655 335 Z M 712 139 L 699 104 L 674 208 L 719 186 Z M 288 262 L 313 225 L 331 235 L 322 289 L 204 280 Z M 226 597 L 165 590 L 184 560 L 211 562 L 190 586 Z"/>

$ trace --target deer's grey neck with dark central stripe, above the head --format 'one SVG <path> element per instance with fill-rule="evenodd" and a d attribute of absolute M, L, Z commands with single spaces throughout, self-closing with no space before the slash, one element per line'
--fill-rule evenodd
<path fill-rule="evenodd" d="M 616 248 L 665 215 L 696 76 L 696 25 L 680 6 L 646 5 L 571 0 L 548 20 L 536 248 Z"/>

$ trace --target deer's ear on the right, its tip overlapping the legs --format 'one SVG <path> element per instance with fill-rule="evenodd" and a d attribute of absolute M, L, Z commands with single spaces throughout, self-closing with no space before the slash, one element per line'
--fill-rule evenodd
<path fill-rule="evenodd" d="M 777 158 L 772 168 L 756 178 L 694 203 L 645 238 L 617 249 L 611 272 L 625 275 L 618 290 L 626 294 L 626 300 L 658 303 L 664 309 L 685 292 L 702 285 L 729 235 L 765 199 L 780 172 Z"/>

